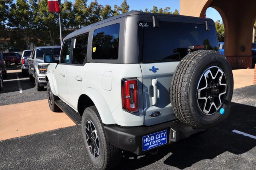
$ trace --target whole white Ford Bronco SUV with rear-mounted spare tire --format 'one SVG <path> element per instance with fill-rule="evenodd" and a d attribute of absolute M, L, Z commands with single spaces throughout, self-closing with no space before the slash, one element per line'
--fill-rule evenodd
<path fill-rule="evenodd" d="M 144 154 L 204 131 L 230 113 L 233 75 L 214 22 L 137 11 L 66 36 L 46 74 L 48 102 L 78 127 L 98 169 L 122 150 Z"/>

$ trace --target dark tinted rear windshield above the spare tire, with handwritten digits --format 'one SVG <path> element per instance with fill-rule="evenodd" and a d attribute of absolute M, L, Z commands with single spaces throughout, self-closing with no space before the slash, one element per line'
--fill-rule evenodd
<path fill-rule="evenodd" d="M 188 54 L 188 47 L 204 45 L 206 50 L 218 51 L 214 26 L 205 30 L 205 25 L 177 22 L 139 22 L 140 61 L 181 60 Z"/>

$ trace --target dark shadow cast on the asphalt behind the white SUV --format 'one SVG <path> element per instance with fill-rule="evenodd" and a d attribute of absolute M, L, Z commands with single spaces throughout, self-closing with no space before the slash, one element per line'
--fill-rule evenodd
<path fill-rule="evenodd" d="M 189 138 L 174 142 L 158 149 L 155 155 L 145 154 L 136 158 L 135 155 L 123 156 L 120 166 L 116 169 L 137 169 L 148 166 L 158 160 L 168 166 L 184 169 L 204 159 L 212 160 L 216 156 L 231 152 L 243 154 L 256 146 L 252 138 L 231 132 L 236 129 L 256 135 L 256 107 L 231 103 L 230 116 L 218 126 L 203 134 L 194 134 Z M 132 158 L 135 156 L 135 158 Z"/>

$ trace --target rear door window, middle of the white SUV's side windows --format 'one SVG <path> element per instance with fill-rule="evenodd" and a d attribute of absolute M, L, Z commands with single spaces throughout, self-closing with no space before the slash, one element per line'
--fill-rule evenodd
<path fill-rule="evenodd" d="M 88 34 L 74 38 L 72 64 L 83 64 L 87 54 Z"/>

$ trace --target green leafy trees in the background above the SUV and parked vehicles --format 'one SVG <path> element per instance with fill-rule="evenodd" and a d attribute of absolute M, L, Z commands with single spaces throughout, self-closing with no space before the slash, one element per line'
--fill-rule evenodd
<path fill-rule="evenodd" d="M 114 5 L 114 8 L 110 5 L 102 6 L 97 0 L 90 4 L 87 3 L 88 0 L 61 2 L 63 37 L 76 29 L 128 12 L 130 9 L 126 0 L 123 0 L 120 6 Z M 158 9 L 157 6 L 153 6 L 152 10 L 146 8 L 144 12 L 179 14 L 178 10 L 172 12 L 170 7 Z M 10 27 L 11 41 L 8 45 L 12 48 L 23 50 L 34 46 L 60 44 L 58 13 L 49 12 L 47 0 L 0 0 L 0 13 L 0 36 L 4 37 L 4 31 Z M 34 46 L 30 47 L 30 44 Z M 7 49 L 7 46 L 1 46 L 0 50 Z"/>

